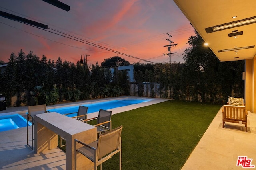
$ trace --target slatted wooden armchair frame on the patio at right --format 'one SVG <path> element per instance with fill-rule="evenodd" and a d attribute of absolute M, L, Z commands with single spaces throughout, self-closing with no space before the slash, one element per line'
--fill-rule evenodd
<path fill-rule="evenodd" d="M 225 122 L 242 123 L 247 132 L 247 110 L 245 106 L 224 105 L 222 110 L 222 127 Z"/>

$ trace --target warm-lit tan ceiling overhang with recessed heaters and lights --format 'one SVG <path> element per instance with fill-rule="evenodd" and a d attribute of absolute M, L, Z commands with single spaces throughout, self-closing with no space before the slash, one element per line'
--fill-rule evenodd
<path fill-rule="evenodd" d="M 220 61 L 256 55 L 255 0 L 174 0 Z"/>

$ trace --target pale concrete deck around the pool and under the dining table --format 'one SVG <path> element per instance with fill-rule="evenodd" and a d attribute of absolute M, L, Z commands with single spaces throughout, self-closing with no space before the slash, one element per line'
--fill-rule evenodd
<path fill-rule="evenodd" d="M 86 100 L 80 102 L 56 104 L 54 106 L 48 106 L 47 109 L 54 109 L 56 107 L 70 106 L 70 105 L 79 105 L 85 102 L 100 102 L 103 100 L 117 100 L 121 98 L 139 98 L 139 97 L 118 97 L 118 98 L 103 98 L 97 100 Z M 144 97 L 143 97 L 144 98 Z M 139 98 L 139 99 L 143 99 Z M 144 99 L 154 99 L 149 102 L 143 102 L 139 104 L 133 104 L 129 106 L 118 107 L 115 109 L 108 109 L 112 111 L 112 114 L 121 113 L 124 111 L 136 109 L 139 107 L 144 107 L 160 102 L 167 101 L 168 99 L 158 99 L 158 98 L 144 98 Z M 100 109 L 100 108 L 99 108 Z M 22 116 L 26 115 L 28 111 L 27 106 L 22 107 L 12 107 L 7 108 L 6 110 L 0 111 L 1 115 L 11 115 L 11 114 L 20 114 Z M 89 113 L 88 118 L 97 117 L 98 112 Z M 9 131 L 0 132 L 0 169 L 1 170 L 65 170 L 66 164 L 65 159 L 66 155 L 61 149 L 51 149 L 44 152 L 35 154 L 34 150 L 31 150 L 30 147 L 26 145 L 27 143 L 27 131 L 26 127 L 19 129 L 13 129 Z M 31 136 L 31 131 L 30 136 Z M 29 141 L 31 143 L 31 139 Z"/>

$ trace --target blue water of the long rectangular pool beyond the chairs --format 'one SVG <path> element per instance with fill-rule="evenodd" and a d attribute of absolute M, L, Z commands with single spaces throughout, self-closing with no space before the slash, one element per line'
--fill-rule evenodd
<path fill-rule="evenodd" d="M 107 102 L 97 102 L 97 103 L 92 103 L 92 104 L 82 104 L 82 106 L 87 106 L 88 107 L 88 111 L 87 113 L 93 113 L 93 112 L 97 112 L 99 111 L 99 109 L 104 109 L 104 110 L 108 110 L 108 109 L 113 109 L 116 107 L 122 107 L 122 106 L 128 106 L 128 105 L 132 105 L 132 104 L 138 104 L 138 103 L 142 103 L 142 102 L 148 102 L 150 100 L 145 100 L 145 99 L 126 99 L 126 100 L 111 100 L 111 101 L 107 101 Z M 69 107 L 61 107 L 61 108 L 57 108 L 57 109 L 48 109 L 48 111 L 50 112 L 57 112 L 60 114 L 65 114 L 65 113 L 74 113 L 77 112 L 79 108 L 78 106 L 69 106 Z M 73 117 L 76 116 L 76 114 L 70 114 L 67 115 L 68 117 Z"/>

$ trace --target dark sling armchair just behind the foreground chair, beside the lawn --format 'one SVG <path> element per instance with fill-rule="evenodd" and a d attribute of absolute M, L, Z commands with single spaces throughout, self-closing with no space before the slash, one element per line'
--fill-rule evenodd
<path fill-rule="evenodd" d="M 112 111 L 100 109 L 98 117 L 86 119 L 84 122 L 97 119 L 97 124 L 94 126 L 97 127 L 97 133 L 99 134 L 111 130 L 111 115 Z"/>

